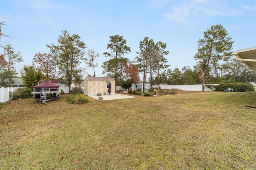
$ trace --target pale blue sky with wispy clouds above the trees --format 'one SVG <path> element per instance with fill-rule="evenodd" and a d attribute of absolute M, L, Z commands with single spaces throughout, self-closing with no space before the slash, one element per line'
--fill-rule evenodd
<path fill-rule="evenodd" d="M 58 45 L 62 30 L 78 34 L 88 49 L 100 53 L 96 59 L 96 76 L 103 76 L 102 62 L 110 59 L 102 53 L 110 36 L 120 35 L 131 52 L 130 60 L 139 52 L 145 37 L 167 44 L 169 69 L 193 68 L 198 40 L 211 26 L 221 24 L 234 41 L 233 51 L 256 46 L 256 1 L 213 0 L 1 0 L 0 16 L 8 26 L 2 32 L 13 38 L 1 37 L 1 45 L 10 43 L 20 51 L 24 62 L 18 70 L 31 65 L 35 53 L 49 53 L 46 44 Z M 3 50 L 0 49 L 0 53 Z M 93 74 L 92 68 L 82 67 Z"/>

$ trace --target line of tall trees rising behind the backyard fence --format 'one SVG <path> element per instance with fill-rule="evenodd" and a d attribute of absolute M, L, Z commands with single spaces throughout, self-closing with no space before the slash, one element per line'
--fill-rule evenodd
<path fill-rule="evenodd" d="M 125 79 L 134 79 L 133 83 L 142 81 L 143 85 L 145 83 L 156 85 L 160 83 L 170 85 L 202 84 L 202 90 L 204 90 L 205 83 L 256 80 L 255 74 L 241 61 L 231 59 L 234 42 L 228 36 L 227 30 L 219 24 L 211 26 L 204 32 L 204 38 L 198 40 L 198 51 L 194 55 L 194 59 L 198 61 L 197 64 L 193 68 L 187 66 L 181 70 L 178 68 L 168 69 L 170 65 L 165 56 L 169 51 L 166 50 L 166 43 L 154 42 L 145 37 L 139 43 L 140 51 L 137 52 L 137 56 L 130 61 L 124 57 L 130 52 L 130 47 L 126 45 L 127 42 L 122 36 L 110 36 L 109 42 L 107 49 L 110 52 L 103 54 L 110 59 L 102 63 L 102 74 L 115 79 L 115 88 Z M 80 67 L 82 62 L 86 63 L 88 67 L 92 67 L 92 75 L 96 76 L 94 67 L 97 67 L 98 64 L 95 59 L 99 57 L 99 54 L 94 50 L 86 52 L 87 47 L 78 34 L 70 35 L 67 30 L 64 30 L 62 35 L 58 36 L 58 44 L 50 43 L 46 46 L 49 47 L 50 53 L 39 52 L 33 58 L 38 65 L 36 69 L 43 73 L 42 79 L 65 79 L 70 87 L 72 82 L 82 81 L 84 76 L 84 68 Z M 20 52 L 15 52 L 10 44 L 4 46 L 4 51 L 4 54 L 0 55 L 0 75 L 1 80 L 8 79 L 6 85 L 10 85 L 11 78 L 16 75 L 14 64 L 22 62 L 23 59 Z M 86 54 L 89 61 L 85 57 Z M 220 61 L 226 61 L 226 63 L 221 65 Z M 57 71 L 58 77 L 56 76 Z M 142 75 L 142 80 L 138 79 L 136 75 L 131 76 L 131 72 L 137 74 L 137 71 Z"/>

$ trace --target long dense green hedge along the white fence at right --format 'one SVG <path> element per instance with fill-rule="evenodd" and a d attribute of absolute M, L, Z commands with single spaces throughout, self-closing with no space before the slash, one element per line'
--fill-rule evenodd
<path fill-rule="evenodd" d="M 215 86 L 215 91 L 224 91 L 228 88 L 233 89 L 234 92 L 254 91 L 254 87 L 251 83 L 220 84 Z"/>

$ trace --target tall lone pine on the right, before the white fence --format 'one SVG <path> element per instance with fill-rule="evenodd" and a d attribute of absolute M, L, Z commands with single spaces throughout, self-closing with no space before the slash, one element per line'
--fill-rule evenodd
<path fill-rule="evenodd" d="M 211 26 L 204 32 L 204 38 L 198 40 L 198 52 L 194 58 L 200 60 L 198 65 L 202 74 L 202 91 L 204 91 L 205 78 L 210 71 L 217 74 L 219 61 L 227 61 L 232 57 L 233 43 L 227 30 L 221 25 Z"/>

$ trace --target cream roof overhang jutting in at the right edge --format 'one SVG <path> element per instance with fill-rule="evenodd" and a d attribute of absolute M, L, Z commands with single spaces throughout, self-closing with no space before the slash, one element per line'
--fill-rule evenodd
<path fill-rule="evenodd" d="M 256 47 L 240 49 L 233 53 L 237 60 L 242 61 L 256 73 Z"/>

